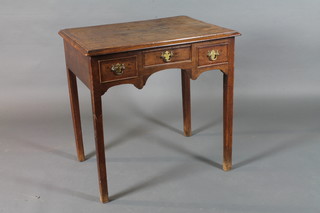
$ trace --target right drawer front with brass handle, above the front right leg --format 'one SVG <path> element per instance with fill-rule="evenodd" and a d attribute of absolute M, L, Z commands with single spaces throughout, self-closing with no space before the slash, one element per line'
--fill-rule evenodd
<path fill-rule="evenodd" d="M 198 47 L 198 66 L 228 61 L 228 43 L 214 43 Z"/>

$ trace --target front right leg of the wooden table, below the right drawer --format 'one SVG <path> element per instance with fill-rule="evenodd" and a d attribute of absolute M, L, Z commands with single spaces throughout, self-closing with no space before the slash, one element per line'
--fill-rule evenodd
<path fill-rule="evenodd" d="M 233 66 L 223 74 L 223 170 L 232 167 Z"/>

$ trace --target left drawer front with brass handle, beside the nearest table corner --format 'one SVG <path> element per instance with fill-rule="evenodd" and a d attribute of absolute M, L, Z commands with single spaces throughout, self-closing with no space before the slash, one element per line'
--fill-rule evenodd
<path fill-rule="evenodd" d="M 101 83 L 138 76 L 136 56 L 99 60 L 98 63 Z"/>

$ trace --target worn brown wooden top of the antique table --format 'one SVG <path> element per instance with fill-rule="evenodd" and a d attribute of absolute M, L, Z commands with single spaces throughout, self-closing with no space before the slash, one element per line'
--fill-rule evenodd
<path fill-rule="evenodd" d="M 240 33 L 188 16 L 70 28 L 59 32 L 86 56 L 238 36 Z"/>

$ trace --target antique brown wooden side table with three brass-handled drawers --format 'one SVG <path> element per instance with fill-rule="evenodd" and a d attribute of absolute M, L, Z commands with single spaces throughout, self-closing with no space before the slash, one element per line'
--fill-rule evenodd
<path fill-rule="evenodd" d="M 85 160 L 76 77 L 91 92 L 101 202 L 108 202 L 101 96 L 120 84 L 141 89 L 149 76 L 181 69 L 184 134 L 191 136 L 190 79 L 223 73 L 223 169 L 232 165 L 234 38 L 240 33 L 187 16 L 64 29 L 70 104 L 79 161 Z"/>

